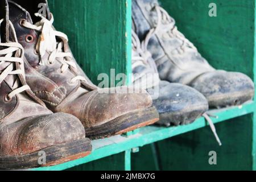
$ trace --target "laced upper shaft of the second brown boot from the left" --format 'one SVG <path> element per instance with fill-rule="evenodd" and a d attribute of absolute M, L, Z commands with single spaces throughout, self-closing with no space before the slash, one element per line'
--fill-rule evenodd
<path fill-rule="evenodd" d="M 36 12 L 40 3 L 46 5 L 46 16 Z M 9 1 L 9 6 L 10 20 L 25 50 L 28 85 L 49 108 L 58 106 L 80 87 L 83 93 L 97 89 L 76 63 L 67 36 L 52 26 L 47 1 L 27 4 L 15 0 Z"/>

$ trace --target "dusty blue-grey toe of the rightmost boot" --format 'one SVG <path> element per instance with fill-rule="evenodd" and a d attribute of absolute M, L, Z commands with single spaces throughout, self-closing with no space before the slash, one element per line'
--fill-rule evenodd
<path fill-rule="evenodd" d="M 203 93 L 211 107 L 241 105 L 254 96 L 254 83 L 236 72 L 210 72 L 194 80 L 191 86 Z"/>

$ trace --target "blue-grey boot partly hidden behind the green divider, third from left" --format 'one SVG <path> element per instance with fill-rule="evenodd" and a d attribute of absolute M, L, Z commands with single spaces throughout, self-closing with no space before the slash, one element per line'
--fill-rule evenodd
<path fill-rule="evenodd" d="M 151 54 L 143 48 L 133 31 L 133 81 L 135 86 L 147 89 L 153 105 L 159 112 L 159 125 L 187 125 L 208 110 L 207 99 L 197 90 L 182 84 L 160 81 Z"/>

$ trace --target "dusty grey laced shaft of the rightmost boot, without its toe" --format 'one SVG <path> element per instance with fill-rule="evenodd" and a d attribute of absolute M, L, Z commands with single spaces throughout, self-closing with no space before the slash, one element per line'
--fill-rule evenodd
<path fill-rule="evenodd" d="M 158 1 L 133 0 L 133 23 L 139 38 L 147 40 L 162 80 L 190 84 L 197 76 L 215 71 Z"/>

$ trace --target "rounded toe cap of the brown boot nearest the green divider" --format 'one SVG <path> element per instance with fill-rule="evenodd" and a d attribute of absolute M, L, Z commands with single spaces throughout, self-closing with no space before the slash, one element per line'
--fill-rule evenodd
<path fill-rule="evenodd" d="M 94 91 L 97 92 L 97 91 Z M 152 106 L 152 98 L 148 93 L 98 93 L 85 118 L 91 126 L 101 125 L 121 115 L 133 111 L 147 109 Z"/>

